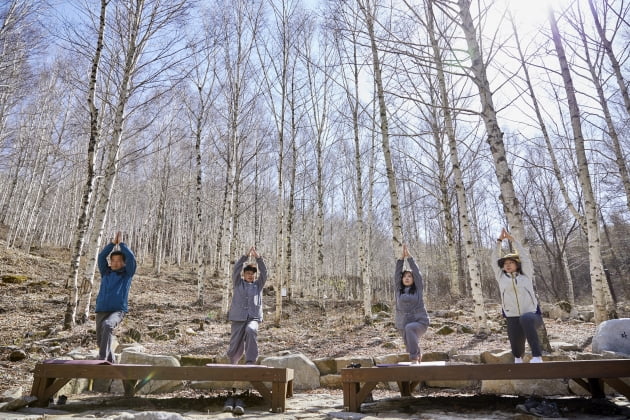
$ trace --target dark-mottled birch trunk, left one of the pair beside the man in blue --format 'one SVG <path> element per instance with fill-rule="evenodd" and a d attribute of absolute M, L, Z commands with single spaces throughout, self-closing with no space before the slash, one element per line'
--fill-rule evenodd
<path fill-rule="evenodd" d="M 85 236 L 87 233 L 89 220 L 88 215 L 90 213 L 90 206 L 92 205 L 92 193 L 94 191 L 94 183 L 96 182 L 95 166 L 96 166 L 96 150 L 99 143 L 99 115 L 98 108 L 94 103 L 96 98 L 96 81 L 99 73 L 99 65 L 101 60 L 101 53 L 103 51 L 103 37 L 105 34 L 105 23 L 107 15 L 107 3 L 108 0 L 101 0 L 101 10 L 99 15 L 99 27 L 97 33 L 96 50 L 94 57 L 92 58 L 92 68 L 90 70 L 90 80 L 88 85 L 88 110 L 90 112 L 90 139 L 87 147 L 87 173 L 85 186 L 83 187 L 83 197 L 81 200 L 81 208 L 79 213 L 79 220 L 77 221 L 77 227 L 74 234 L 74 248 L 72 250 L 72 259 L 70 262 L 70 275 L 66 282 L 66 288 L 70 288 L 70 296 L 68 298 L 68 304 L 66 306 L 66 312 L 64 316 L 64 329 L 69 330 L 76 323 L 77 306 L 79 302 L 79 264 L 81 262 L 81 254 L 83 253 L 83 247 L 85 245 Z"/>

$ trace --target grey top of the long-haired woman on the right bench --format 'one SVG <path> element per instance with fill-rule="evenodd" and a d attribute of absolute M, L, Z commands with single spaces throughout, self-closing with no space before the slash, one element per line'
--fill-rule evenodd
<path fill-rule="evenodd" d="M 403 329 L 410 322 L 418 322 L 429 325 L 429 315 L 424 307 L 423 283 L 420 269 L 412 257 L 408 257 L 409 268 L 413 275 L 413 283 L 416 285 L 416 292 L 409 293 L 407 287 L 402 289 L 402 269 L 404 260 L 396 261 L 396 271 L 394 272 L 394 289 L 396 290 L 396 328 Z"/>

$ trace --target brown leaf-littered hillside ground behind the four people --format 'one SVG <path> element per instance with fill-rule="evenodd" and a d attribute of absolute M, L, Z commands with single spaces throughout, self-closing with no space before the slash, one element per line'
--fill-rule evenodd
<path fill-rule="evenodd" d="M 93 316 L 86 325 L 72 331 L 61 329 L 68 291 L 64 288 L 69 267 L 64 250 L 39 250 L 29 255 L 10 250 L 0 241 L 0 275 L 25 275 L 23 284 L 0 283 L 0 392 L 21 386 L 30 389 L 32 369 L 41 360 L 60 356 L 72 349 L 95 348 Z M 130 332 L 140 334 L 140 342 L 152 354 L 224 354 L 229 339 L 229 324 L 220 319 L 220 295 L 216 284 L 207 287 L 208 304 L 195 304 L 195 276 L 190 270 L 164 267 L 153 276 L 141 267 L 130 294 L 130 313 L 118 330 L 121 341 L 130 341 Z M 311 359 L 341 356 L 377 356 L 404 352 L 391 317 L 366 324 L 360 302 L 327 302 L 325 311 L 317 300 L 285 302 L 281 326 L 273 326 L 273 296 L 265 296 L 266 322 L 259 333 L 262 355 L 281 350 L 302 352 Z M 442 307 L 444 306 L 444 307 Z M 423 337 L 424 352 L 466 352 L 505 350 L 505 329 L 496 305 L 487 310 L 494 331 L 487 337 L 454 333 L 437 335 L 444 323 L 470 325 L 470 302 L 446 304 L 432 302 L 432 327 Z M 448 309 L 448 310 L 447 310 Z M 92 314 L 93 315 L 93 314 Z M 584 343 L 593 335 L 592 323 L 545 320 L 552 341 Z M 189 334 L 186 330 L 192 330 Z M 9 361 L 14 349 L 28 357 Z"/>

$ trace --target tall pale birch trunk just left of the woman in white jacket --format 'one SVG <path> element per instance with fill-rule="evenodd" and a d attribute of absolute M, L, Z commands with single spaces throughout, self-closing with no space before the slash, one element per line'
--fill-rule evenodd
<path fill-rule="evenodd" d="M 464 175 L 462 173 L 459 151 L 457 149 L 457 139 L 455 137 L 455 127 L 452 117 L 452 108 L 446 88 L 446 77 L 444 72 L 444 63 L 442 61 L 442 52 L 435 36 L 435 15 L 433 13 L 433 0 L 428 3 L 428 32 L 431 41 L 431 49 L 433 51 L 433 60 L 437 71 L 437 79 L 439 86 L 441 111 L 444 116 L 444 126 L 448 144 L 450 149 L 451 166 L 453 168 L 453 178 L 455 182 L 455 192 L 457 194 L 457 214 L 459 217 L 460 229 L 464 240 L 464 252 L 466 254 L 466 266 L 468 267 L 468 275 L 470 276 L 470 289 L 473 298 L 475 325 L 478 332 L 486 332 L 487 319 L 484 310 L 483 289 L 481 281 L 481 273 L 478 268 L 477 253 L 473 240 L 470 217 L 468 214 L 468 197 L 466 196 L 466 187 L 464 185 Z M 444 209 L 448 211 L 448 209 Z M 459 291 L 459 290 L 458 290 Z"/>

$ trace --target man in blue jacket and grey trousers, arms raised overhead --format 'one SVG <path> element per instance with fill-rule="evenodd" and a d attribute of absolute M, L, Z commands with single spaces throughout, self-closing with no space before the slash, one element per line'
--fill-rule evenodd
<path fill-rule="evenodd" d="M 118 245 L 118 251 L 114 248 Z M 113 252 L 112 252 L 113 251 Z M 107 257 L 109 256 L 109 264 Z M 114 329 L 129 311 L 128 297 L 131 280 L 136 272 L 136 257 L 121 242 L 120 232 L 98 254 L 101 287 L 96 297 L 96 342 L 98 358 L 116 363 L 112 341 Z"/>

